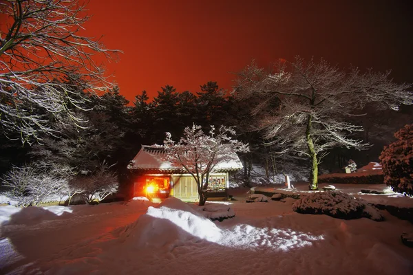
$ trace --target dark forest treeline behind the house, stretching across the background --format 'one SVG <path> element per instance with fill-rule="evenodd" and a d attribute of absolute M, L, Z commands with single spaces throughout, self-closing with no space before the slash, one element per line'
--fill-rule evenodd
<path fill-rule="evenodd" d="M 56 135 L 43 135 L 32 145 L 27 142 L 22 145 L 19 133 L 10 135 L 4 132 L 0 135 L 1 174 L 12 165 L 52 162 L 70 166 L 78 175 L 88 175 L 105 163 L 124 184 L 130 181 L 127 164 L 142 144 L 161 144 L 165 132 L 170 132 L 178 140 L 184 128 L 193 123 L 205 131 L 210 125 L 235 127 L 237 139 L 248 142 L 251 148 L 251 152 L 240 156 L 244 162 L 246 182 L 253 163 L 261 165 L 268 177 L 273 173 L 299 173 L 307 165 L 302 159 L 274 154 L 273 147 L 266 146 L 268 141 L 262 139 L 260 131 L 251 130 L 255 123 L 251 116 L 253 102 L 229 96 L 215 82 L 201 85 L 200 91 L 195 93 L 178 92 L 173 86 L 166 85 L 152 101 L 149 101 L 147 92 L 142 91 L 132 104 L 117 88 L 100 96 L 84 94 L 80 89 L 74 93 L 87 98 L 81 108 L 72 107 L 76 116 L 83 119 L 77 126 L 69 121 L 70 118 L 65 123 L 45 113 Z M 67 104 L 70 108 L 71 103 Z M 41 113 L 41 110 L 33 111 Z M 378 115 L 379 111 L 374 106 L 366 107 L 365 111 L 368 115 L 355 118 L 366 129 L 359 133 L 359 138 L 377 145 L 361 152 L 334 148 L 321 165 L 324 170 L 337 171 L 350 158 L 355 159 L 359 166 L 377 161 L 383 145 L 392 141 L 394 131 L 403 126 L 412 114 L 411 108 L 405 108 L 401 113 L 388 111 L 386 119 L 383 119 L 383 113 Z"/>

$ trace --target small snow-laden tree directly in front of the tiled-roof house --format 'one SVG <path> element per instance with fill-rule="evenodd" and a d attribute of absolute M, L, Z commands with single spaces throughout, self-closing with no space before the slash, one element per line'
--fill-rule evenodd
<path fill-rule="evenodd" d="M 215 166 L 220 162 L 233 160 L 234 153 L 248 151 L 247 144 L 233 140 L 234 135 L 235 131 L 231 127 L 221 126 L 220 130 L 215 132 L 215 127 L 211 126 L 211 131 L 206 134 L 201 126 L 195 124 L 184 129 L 184 135 L 178 143 L 167 133 L 163 145 L 167 159 L 173 166 L 184 167 L 195 179 L 200 206 L 207 201 L 204 190 L 208 188 L 209 173 Z"/>

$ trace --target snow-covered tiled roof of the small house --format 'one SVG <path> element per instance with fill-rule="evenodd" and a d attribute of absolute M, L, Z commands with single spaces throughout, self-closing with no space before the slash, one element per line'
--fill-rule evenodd
<path fill-rule="evenodd" d="M 215 171 L 240 170 L 244 166 L 236 153 L 233 153 L 228 162 L 219 162 L 215 165 Z M 184 170 L 183 167 L 176 167 L 166 159 L 165 150 L 161 147 L 142 145 L 138 154 L 131 160 L 128 169 L 136 170 Z"/>

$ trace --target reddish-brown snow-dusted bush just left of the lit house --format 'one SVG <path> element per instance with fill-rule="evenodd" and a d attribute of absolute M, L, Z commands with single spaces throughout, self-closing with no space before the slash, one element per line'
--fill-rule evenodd
<path fill-rule="evenodd" d="M 70 182 L 72 190 L 80 190 L 86 203 L 103 201 L 118 191 L 119 181 L 115 173 L 103 164 L 92 175 L 76 177 Z"/>

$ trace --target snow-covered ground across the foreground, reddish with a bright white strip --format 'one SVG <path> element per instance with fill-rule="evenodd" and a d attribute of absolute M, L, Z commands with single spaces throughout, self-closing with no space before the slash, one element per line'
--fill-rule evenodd
<path fill-rule="evenodd" d="M 400 239 L 412 223 L 298 214 L 294 199 L 246 203 L 247 191 L 233 190 L 236 216 L 222 222 L 176 199 L 2 206 L 0 273 L 413 274 Z"/>

